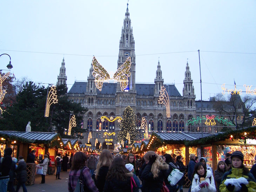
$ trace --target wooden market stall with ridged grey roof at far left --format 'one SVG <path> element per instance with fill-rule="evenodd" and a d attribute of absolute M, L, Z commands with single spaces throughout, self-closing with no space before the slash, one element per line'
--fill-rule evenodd
<path fill-rule="evenodd" d="M 36 164 L 40 157 L 46 152 L 50 153 L 50 158 L 55 158 L 56 151 L 61 148 L 62 140 L 57 133 L 47 132 L 26 132 L 26 131 L 0 131 L 1 148 L 12 147 L 13 156 L 18 158 L 23 156 L 27 161 L 27 156 L 32 150 L 35 150 L 35 163 L 27 163 L 27 182 L 26 185 L 33 185 L 36 174 Z M 5 144 L 5 146 L 4 146 Z M 54 163 L 54 161 L 53 161 Z"/>

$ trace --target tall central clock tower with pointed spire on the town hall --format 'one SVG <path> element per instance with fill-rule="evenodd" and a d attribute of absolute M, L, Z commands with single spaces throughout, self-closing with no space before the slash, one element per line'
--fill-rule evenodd
<path fill-rule="evenodd" d="M 121 39 L 119 43 L 119 56 L 117 61 L 117 69 L 126 61 L 128 57 L 131 57 L 132 65 L 130 68 L 130 77 L 127 90 L 135 92 L 135 42 L 133 37 L 133 28 L 131 27 L 130 13 L 127 9 L 125 13 L 125 18 L 123 20 L 123 27 L 121 33 Z M 117 84 L 117 92 L 121 92 L 120 83 Z"/>

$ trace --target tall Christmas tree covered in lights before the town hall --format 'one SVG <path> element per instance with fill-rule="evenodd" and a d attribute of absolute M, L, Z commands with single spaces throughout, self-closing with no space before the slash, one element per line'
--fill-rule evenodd
<path fill-rule="evenodd" d="M 139 131 L 136 130 L 136 115 L 130 106 L 124 109 L 119 127 L 120 131 L 117 134 L 117 138 L 120 143 L 123 140 L 124 143 L 130 146 L 139 139 Z"/>

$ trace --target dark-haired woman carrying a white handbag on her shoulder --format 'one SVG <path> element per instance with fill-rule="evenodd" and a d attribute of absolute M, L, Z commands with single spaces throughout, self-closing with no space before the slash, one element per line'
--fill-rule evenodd
<path fill-rule="evenodd" d="M 176 190 L 176 185 L 171 186 L 168 182 L 168 176 L 170 175 L 171 171 L 173 169 L 178 169 L 178 167 L 174 164 L 173 157 L 171 157 L 170 154 L 164 154 L 163 155 L 163 162 L 166 163 L 169 167 L 168 170 L 166 171 L 166 174 L 164 176 L 164 183 L 168 187 L 170 191 L 175 191 Z"/>

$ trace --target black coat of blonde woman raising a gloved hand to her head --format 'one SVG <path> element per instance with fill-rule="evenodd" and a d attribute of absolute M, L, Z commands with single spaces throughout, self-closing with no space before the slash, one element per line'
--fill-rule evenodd
<path fill-rule="evenodd" d="M 160 192 L 163 187 L 164 176 L 166 175 L 166 170 L 160 170 L 157 178 L 153 178 L 153 173 L 151 172 L 150 164 L 146 164 L 140 178 L 142 178 L 142 192 Z"/>

